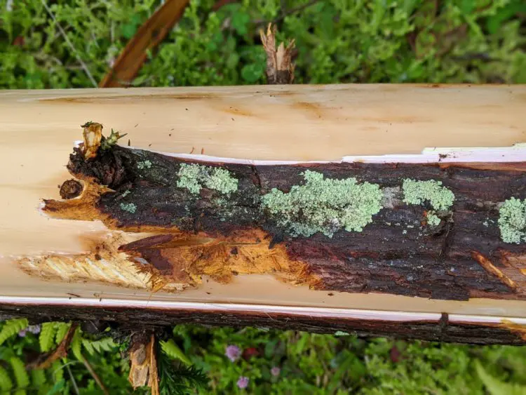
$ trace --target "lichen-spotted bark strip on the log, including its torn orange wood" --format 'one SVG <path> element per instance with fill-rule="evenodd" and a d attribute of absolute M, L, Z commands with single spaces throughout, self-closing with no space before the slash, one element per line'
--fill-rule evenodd
<path fill-rule="evenodd" d="M 525 194 L 524 163 L 250 165 L 119 145 L 89 160 L 84 152 L 74 148 L 67 164 L 82 194 L 45 200 L 43 212 L 137 237 L 114 234 L 86 255 L 25 257 L 29 274 L 179 291 L 203 276 L 271 274 L 342 293 L 526 299 L 525 246 L 503 241 L 499 227 L 501 203 Z"/>

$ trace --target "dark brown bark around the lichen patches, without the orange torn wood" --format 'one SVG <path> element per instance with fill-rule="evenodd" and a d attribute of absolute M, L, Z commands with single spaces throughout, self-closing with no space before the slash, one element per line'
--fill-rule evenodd
<path fill-rule="evenodd" d="M 118 229 L 148 227 L 168 234 L 164 239 L 148 241 L 142 249 L 142 257 L 152 260 L 153 265 L 156 260 L 164 272 L 170 267 L 166 256 L 173 253 L 163 251 L 177 244 L 170 239 L 170 232 L 243 241 L 243 232 L 259 229 L 267 239 L 250 242 L 270 243 L 270 248 L 283 243 L 289 260 L 303 262 L 309 274 L 318 277 L 318 289 L 448 300 L 526 298 L 526 277 L 522 274 L 526 271 L 520 271 L 526 268 L 521 259 L 526 246 L 501 241 L 497 225 L 499 202 L 511 196 L 526 197 L 524 163 L 469 168 L 466 163 L 251 166 L 200 162 L 229 170 L 238 180 L 238 190 L 229 196 L 205 187 L 196 196 L 177 187 L 182 163 L 191 162 L 114 146 L 101 150 L 91 161 L 84 161 L 80 150 L 75 149 L 68 168 L 78 178 L 95 178 L 115 191 L 102 194 L 95 205 Z M 293 185 L 302 185 L 306 169 L 323 173 L 325 178 L 354 177 L 382 188 L 400 188 L 405 178 L 438 180 L 454 193 L 455 200 L 449 212 L 439 213 L 443 220 L 438 227 L 425 224 L 425 212 L 431 206 L 407 205 L 399 190 L 393 195 L 392 208 L 382 208 L 363 232 L 340 230 L 332 238 L 321 233 L 292 237 L 261 209 L 260 199 L 273 188 L 288 192 Z M 152 252 L 152 248 L 157 251 Z M 123 250 L 140 254 L 141 246 Z M 498 270 L 481 265 L 473 253 Z M 495 275 L 497 272 L 502 276 Z"/>

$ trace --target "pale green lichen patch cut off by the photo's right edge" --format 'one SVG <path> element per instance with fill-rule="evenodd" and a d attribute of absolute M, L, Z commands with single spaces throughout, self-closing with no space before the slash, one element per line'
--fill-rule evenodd
<path fill-rule="evenodd" d="M 526 199 L 512 197 L 499 208 L 499 228 L 505 243 L 526 241 Z"/>

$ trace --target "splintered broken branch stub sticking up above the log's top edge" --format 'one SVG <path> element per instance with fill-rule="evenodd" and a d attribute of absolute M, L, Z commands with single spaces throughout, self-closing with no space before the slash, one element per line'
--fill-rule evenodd
<path fill-rule="evenodd" d="M 269 23 L 267 33 L 259 32 L 265 52 L 267 53 L 267 83 L 271 85 L 292 83 L 294 80 L 294 64 L 292 63 L 292 50 L 295 40 L 292 39 L 288 46 L 281 43 L 276 49 L 276 25 Z"/>

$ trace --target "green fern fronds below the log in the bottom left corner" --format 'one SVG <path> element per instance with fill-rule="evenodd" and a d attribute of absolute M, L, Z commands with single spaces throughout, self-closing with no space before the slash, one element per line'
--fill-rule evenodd
<path fill-rule="evenodd" d="M 13 326 L 13 323 L 0 322 L 0 331 L 6 325 Z M 41 344 L 48 349 L 57 347 L 70 326 L 71 323 L 50 322 L 41 325 L 38 335 L 36 331 L 28 330 L 18 336 L 8 337 L 4 345 L 0 346 L 0 393 L 9 390 L 12 394 L 68 395 L 74 393 L 72 380 L 75 380 L 80 394 L 102 394 L 97 382 L 84 366 L 83 359 L 89 361 L 110 394 L 147 393 L 146 389 L 132 391 L 130 388 L 127 378 L 129 363 L 121 358 L 119 344 L 111 337 L 104 337 L 104 333 L 102 337 L 93 338 L 80 328 L 76 329 L 72 344 L 76 342 L 85 355 L 81 352 L 74 353 L 72 349 L 69 356 L 53 362 L 48 369 L 27 371 L 27 356 L 43 352 Z"/>

